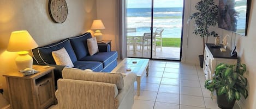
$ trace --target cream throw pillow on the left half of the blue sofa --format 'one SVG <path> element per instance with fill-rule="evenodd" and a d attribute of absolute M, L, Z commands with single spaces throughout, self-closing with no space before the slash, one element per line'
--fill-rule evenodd
<path fill-rule="evenodd" d="M 56 65 L 74 67 L 67 50 L 63 47 L 62 49 L 51 52 L 52 57 Z"/>

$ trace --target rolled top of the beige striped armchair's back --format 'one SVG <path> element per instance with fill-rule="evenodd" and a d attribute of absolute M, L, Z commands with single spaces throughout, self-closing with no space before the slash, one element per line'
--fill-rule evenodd
<path fill-rule="evenodd" d="M 63 79 L 96 81 L 115 84 L 118 89 L 122 89 L 124 86 L 123 75 L 121 73 L 93 73 L 80 69 L 64 68 L 62 70 L 62 76 Z"/>

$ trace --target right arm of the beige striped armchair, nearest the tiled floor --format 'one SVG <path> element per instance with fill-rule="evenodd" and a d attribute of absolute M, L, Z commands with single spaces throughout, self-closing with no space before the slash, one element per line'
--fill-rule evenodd
<path fill-rule="evenodd" d="M 115 103 L 116 106 L 119 106 L 122 103 L 122 101 L 129 96 L 127 95 L 129 91 L 134 91 L 134 82 L 136 78 L 137 78 L 137 75 L 135 73 L 129 73 L 123 78 L 124 87 L 121 90 L 118 90 L 119 93 L 116 97 L 116 103 Z M 133 95 L 131 99 L 133 99 Z"/>

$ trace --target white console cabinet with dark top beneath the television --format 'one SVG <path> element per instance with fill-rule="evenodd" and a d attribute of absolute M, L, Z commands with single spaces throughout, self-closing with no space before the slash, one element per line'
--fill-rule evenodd
<path fill-rule="evenodd" d="M 203 70 L 206 79 L 212 79 L 214 70 L 219 63 L 227 63 L 230 65 L 236 65 L 237 57 L 231 57 L 231 50 L 227 49 L 227 52 L 221 52 L 219 48 L 211 48 L 213 43 L 205 44 L 204 53 L 204 65 Z"/>

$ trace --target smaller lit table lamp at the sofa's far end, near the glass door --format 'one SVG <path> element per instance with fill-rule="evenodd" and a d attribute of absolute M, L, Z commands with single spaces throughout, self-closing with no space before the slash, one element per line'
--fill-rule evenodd
<path fill-rule="evenodd" d="M 91 29 L 96 30 L 94 36 L 97 39 L 97 42 L 102 41 L 102 33 L 100 33 L 100 29 L 105 29 L 102 20 L 93 20 Z"/>

